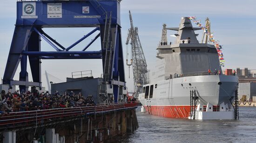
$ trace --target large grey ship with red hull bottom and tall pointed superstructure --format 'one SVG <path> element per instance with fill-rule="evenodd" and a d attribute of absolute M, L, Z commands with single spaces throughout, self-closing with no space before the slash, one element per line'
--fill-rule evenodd
<path fill-rule="evenodd" d="M 141 110 L 168 118 L 234 119 L 238 77 L 223 75 L 215 45 L 197 40 L 195 31 L 202 29 L 189 17 L 165 29 L 177 31 L 176 40 L 158 44 L 155 71 L 138 97 Z"/>

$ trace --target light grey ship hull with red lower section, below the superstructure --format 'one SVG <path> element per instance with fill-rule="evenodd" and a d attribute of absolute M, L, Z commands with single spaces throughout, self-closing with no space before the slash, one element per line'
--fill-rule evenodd
<path fill-rule="evenodd" d="M 206 110 L 208 103 L 213 105 L 214 111 L 220 111 L 220 105 L 224 103 L 222 105 L 228 108 L 224 111 L 233 112 L 231 102 L 234 100 L 238 78 L 227 75 L 188 76 L 158 81 L 145 87 L 150 85 L 154 87 L 152 96 L 145 99 L 145 93 L 139 94 L 146 112 L 171 118 L 189 118 L 190 91 L 195 91 L 199 97 L 198 104 L 202 106 L 202 111 Z"/>

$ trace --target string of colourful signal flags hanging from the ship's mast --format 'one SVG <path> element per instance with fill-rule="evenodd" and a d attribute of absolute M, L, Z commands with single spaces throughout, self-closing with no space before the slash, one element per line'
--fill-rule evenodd
<path fill-rule="evenodd" d="M 220 66 L 224 67 L 224 58 L 223 58 L 223 53 L 222 53 L 222 46 L 219 45 L 219 42 L 217 40 L 215 40 L 215 38 L 213 37 L 213 33 L 209 33 L 207 27 L 202 26 L 202 24 L 200 23 L 200 20 L 196 20 L 196 17 L 191 16 L 189 17 L 190 20 L 192 20 L 197 26 L 199 26 L 200 28 L 202 28 L 202 30 L 204 31 L 205 34 L 207 34 L 209 36 L 209 41 L 212 42 L 218 52 L 218 56 L 219 56 L 219 61 L 220 61 Z"/>

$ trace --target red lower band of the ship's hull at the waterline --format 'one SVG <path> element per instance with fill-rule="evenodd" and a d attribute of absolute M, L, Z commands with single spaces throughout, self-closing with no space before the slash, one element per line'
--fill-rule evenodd
<path fill-rule="evenodd" d="M 188 118 L 190 106 L 144 106 L 147 113 L 168 118 Z"/>

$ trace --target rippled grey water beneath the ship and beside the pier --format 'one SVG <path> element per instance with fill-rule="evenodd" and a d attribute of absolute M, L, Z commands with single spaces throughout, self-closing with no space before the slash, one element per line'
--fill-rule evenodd
<path fill-rule="evenodd" d="M 137 112 L 139 129 L 118 143 L 256 143 L 256 108 L 239 107 L 239 120 L 189 120 Z"/>

